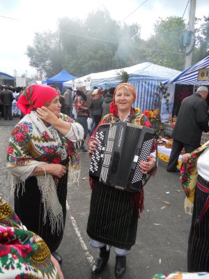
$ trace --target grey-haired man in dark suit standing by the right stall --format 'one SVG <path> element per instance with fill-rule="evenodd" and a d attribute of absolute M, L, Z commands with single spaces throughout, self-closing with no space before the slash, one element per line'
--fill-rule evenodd
<path fill-rule="evenodd" d="M 171 135 L 173 146 L 167 172 L 178 172 L 176 165 L 183 148 L 185 148 L 186 153 L 191 153 L 200 146 L 203 131 L 209 131 L 207 96 L 208 88 L 200 86 L 196 93 L 182 101 L 178 119 Z"/>

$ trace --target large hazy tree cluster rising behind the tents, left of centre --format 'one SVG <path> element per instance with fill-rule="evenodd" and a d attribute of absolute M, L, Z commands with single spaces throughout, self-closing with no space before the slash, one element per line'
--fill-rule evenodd
<path fill-rule="evenodd" d="M 57 32 L 36 33 L 26 54 L 31 66 L 44 70 L 47 76 L 65 68 L 79 77 L 132 66 L 136 57 L 130 56 L 139 41 L 137 24 L 119 24 L 107 10 L 96 10 L 83 21 L 62 17 Z"/>

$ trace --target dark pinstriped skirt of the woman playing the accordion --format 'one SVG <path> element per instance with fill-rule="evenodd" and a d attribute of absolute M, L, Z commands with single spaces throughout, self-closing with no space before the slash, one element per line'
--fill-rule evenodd
<path fill-rule="evenodd" d="M 132 193 L 94 181 L 87 224 L 91 239 L 130 250 L 136 241 L 137 223 Z"/>

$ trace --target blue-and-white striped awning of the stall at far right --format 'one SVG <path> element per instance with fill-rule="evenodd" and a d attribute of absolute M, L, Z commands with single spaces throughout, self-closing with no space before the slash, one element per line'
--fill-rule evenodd
<path fill-rule="evenodd" d="M 209 56 L 204 58 L 203 60 L 195 63 L 193 66 L 187 68 L 176 77 L 173 77 L 171 80 L 167 80 L 162 82 L 162 84 L 197 84 L 197 85 L 209 85 L 209 81 L 200 81 L 198 80 L 198 71 L 201 68 L 209 67 Z"/>

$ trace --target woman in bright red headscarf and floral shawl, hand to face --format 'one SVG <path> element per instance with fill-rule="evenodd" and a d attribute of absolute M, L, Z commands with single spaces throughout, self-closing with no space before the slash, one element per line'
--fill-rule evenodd
<path fill-rule="evenodd" d="M 61 261 L 56 249 L 65 227 L 67 184 L 79 178 L 75 142 L 84 130 L 61 114 L 59 94 L 50 86 L 29 86 L 17 107 L 24 117 L 13 129 L 7 152 L 15 212 Z"/>

